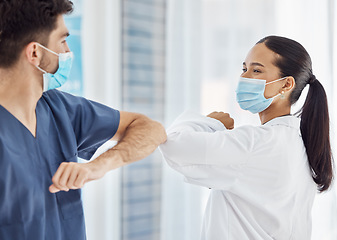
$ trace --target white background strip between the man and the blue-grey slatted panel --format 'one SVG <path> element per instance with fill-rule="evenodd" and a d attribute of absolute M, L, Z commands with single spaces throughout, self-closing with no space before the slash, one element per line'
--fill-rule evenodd
<path fill-rule="evenodd" d="M 119 0 L 83 0 L 84 96 L 116 109 L 121 105 L 120 14 Z M 120 239 L 120 170 L 88 183 L 83 202 L 87 239 Z"/>

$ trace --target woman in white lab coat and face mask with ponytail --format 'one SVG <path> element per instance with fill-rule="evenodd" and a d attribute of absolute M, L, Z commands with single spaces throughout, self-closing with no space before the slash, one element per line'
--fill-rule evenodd
<path fill-rule="evenodd" d="M 307 85 L 301 118 L 291 115 Z M 261 126 L 186 112 L 160 147 L 187 182 L 212 189 L 201 239 L 308 240 L 316 191 L 333 178 L 327 98 L 310 56 L 296 41 L 266 37 L 248 53 L 236 93 Z"/>

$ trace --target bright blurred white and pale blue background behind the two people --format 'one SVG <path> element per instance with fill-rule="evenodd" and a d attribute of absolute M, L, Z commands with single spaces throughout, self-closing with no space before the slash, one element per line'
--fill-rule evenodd
<path fill-rule="evenodd" d="M 166 127 L 184 110 L 229 112 L 236 127 L 258 125 L 257 115 L 237 105 L 235 87 L 249 49 L 267 35 L 281 35 L 311 55 L 329 98 L 336 154 L 335 0 L 73 2 L 66 24 L 75 63 L 64 91 Z M 94 158 L 114 144 L 107 142 Z M 88 240 L 197 240 L 207 198 L 207 189 L 185 184 L 156 151 L 85 186 Z M 317 195 L 313 240 L 337 239 L 336 207 L 335 186 Z"/>

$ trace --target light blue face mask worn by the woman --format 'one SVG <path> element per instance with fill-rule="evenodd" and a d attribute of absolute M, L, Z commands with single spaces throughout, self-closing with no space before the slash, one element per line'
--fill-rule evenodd
<path fill-rule="evenodd" d="M 242 109 L 248 110 L 251 113 L 262 112 L 270 106 L 274 98 L 281 95 L 279 93 L 272 98 L 265 98 L 264 90 L 266 85 L 281 81 L 285 78 L 287 77 L 266 83 L 266 80 L 240 77 L 238 87 L 236 89 L 236 101 Z"/>

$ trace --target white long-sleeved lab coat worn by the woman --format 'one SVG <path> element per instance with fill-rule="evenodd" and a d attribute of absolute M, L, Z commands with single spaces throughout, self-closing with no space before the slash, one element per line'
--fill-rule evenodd
<path fill-rule="evenodd" d="M 186 112 L 160 150 L 186 181 L 211 188 L 202 240 L 309 240 L 316 194 L 299 119 L 227 130 Z"/>

